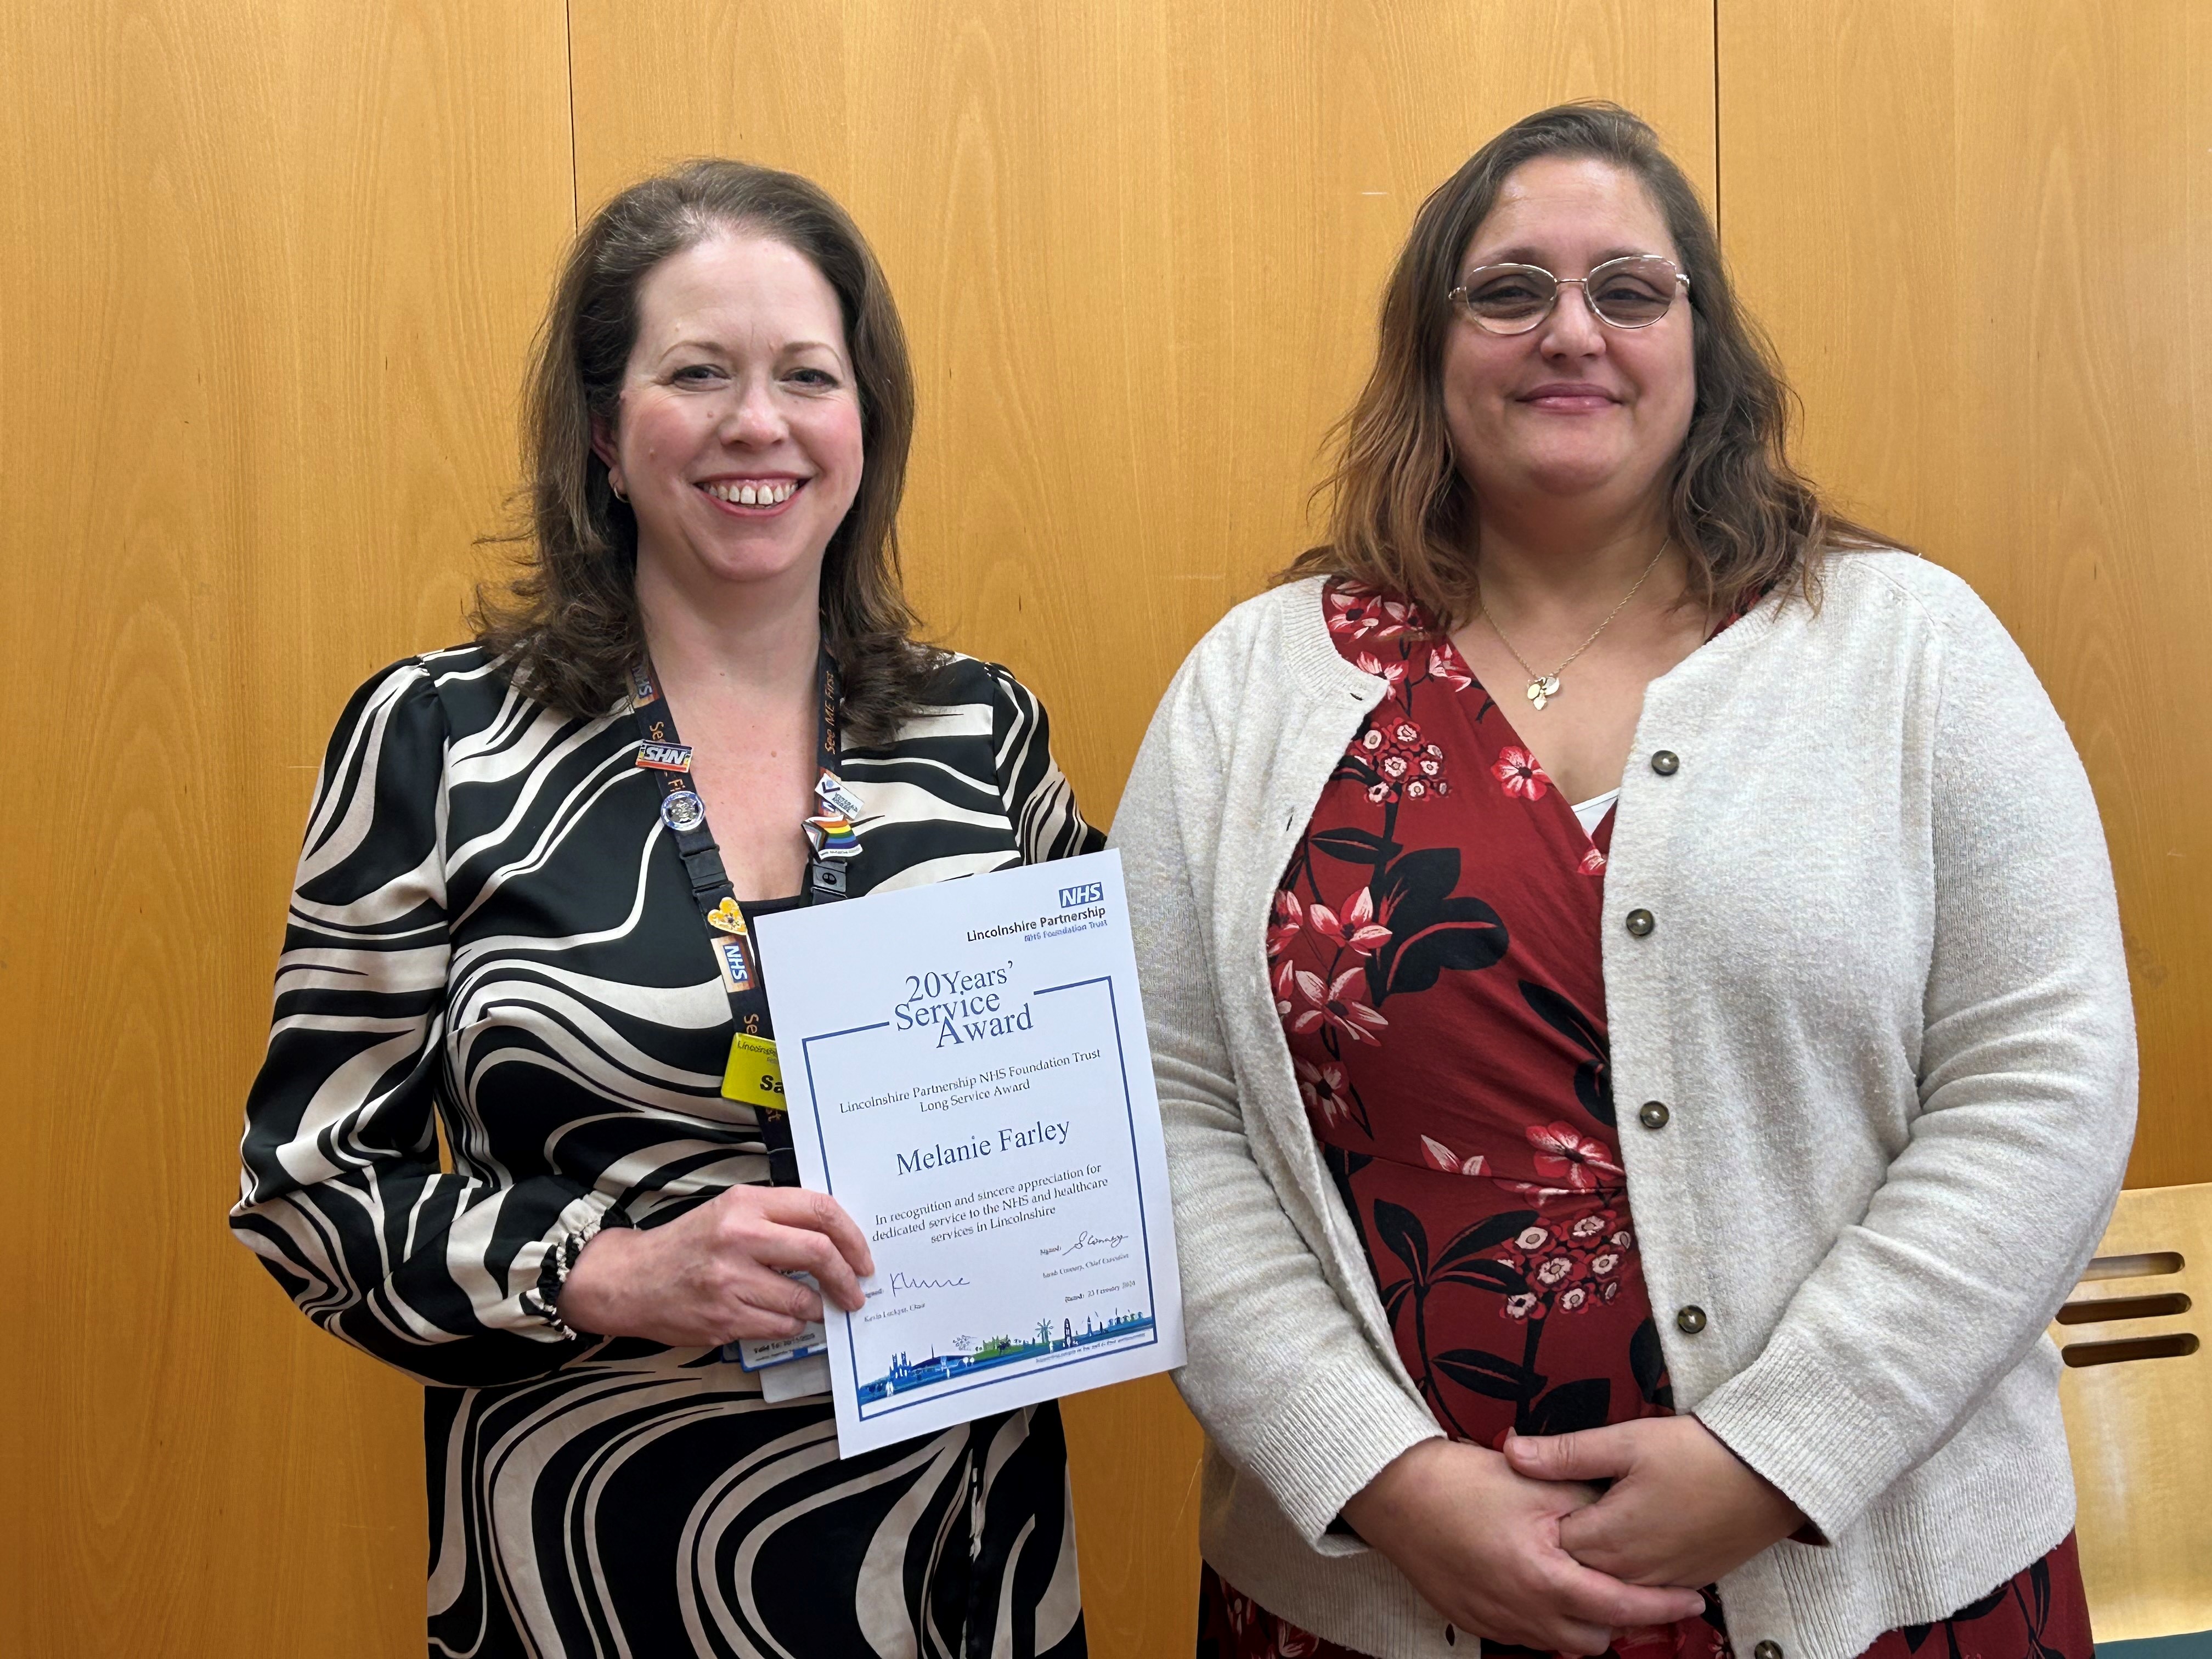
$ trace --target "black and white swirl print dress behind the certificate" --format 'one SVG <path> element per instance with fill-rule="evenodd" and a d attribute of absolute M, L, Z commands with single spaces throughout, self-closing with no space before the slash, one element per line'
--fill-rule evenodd
<path fill-rule="evenodd" d="M 473 646 L 409 659 L 347 703 L 301 852 L 232 1230 L 427 1385 L 429 1652 L 1075 1659 L 1057 1407 L 838 1460 L 827 1396 L 549 1316 L 571 1232 L 765 1179 L 635 754 L 626 710 L 553 714 Z M 1104 843 L 1044 710 L 967 657 L 841 776 L 854 894 Z"/>

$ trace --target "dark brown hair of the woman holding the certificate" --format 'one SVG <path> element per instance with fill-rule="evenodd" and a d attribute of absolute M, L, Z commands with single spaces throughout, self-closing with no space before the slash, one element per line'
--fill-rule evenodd
<path fill-rule="evenodd" d="M 925 695 L 940 657 L 914 641 L 898 582 L 898 498 L 914 438 L 914 369 L 883 268 L 830 195 L 794 173 L 686 161 L 633 184 L 568 248 L 524 392 L 518 571 L 478 586 L 478 644 L 564 714 L 608 712 L 644 661 L 637 520 L 591 449 L 615 420 L 637 343 L 637 290 L 664 259 L 721 230 L 772 237 L 838 296 L 860 396 L 860 491 L 823 555 L 823 637 L 845 681 L 845 721 L 880 739 Z"/>

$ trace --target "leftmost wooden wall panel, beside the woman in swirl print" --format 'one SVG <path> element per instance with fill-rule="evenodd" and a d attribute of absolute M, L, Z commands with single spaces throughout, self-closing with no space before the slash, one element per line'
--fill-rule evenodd
<path fill-rule="evenodd" d="M 0 155 L 0 1652 L 420 1652 L 420 1391 L 223 1210 L 321 743 L 513 473 L 562 4 L 11 2 Z"/>

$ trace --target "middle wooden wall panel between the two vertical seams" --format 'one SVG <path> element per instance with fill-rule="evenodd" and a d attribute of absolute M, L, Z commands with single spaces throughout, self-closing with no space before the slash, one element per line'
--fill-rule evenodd
<path fill-rule="evenodd" d="M 1710 0 L 571 0 L 577 197 L 796 168 L 889 268 L 905 515 L 938 635 L 1011 664 L 1106 821 L 1190 644 L 1310 540 L 1422 195 L 1509 119 L 1617 97 L 1712 184 Z M 1068 1407 L 1093 1650 L 1190 1650 L 1197 1429 Z"/>

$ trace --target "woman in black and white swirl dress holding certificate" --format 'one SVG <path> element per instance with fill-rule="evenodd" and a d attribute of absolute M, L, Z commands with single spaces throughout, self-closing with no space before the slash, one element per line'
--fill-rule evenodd
<path fill-rule="evenodd" d="M 232 1228 L 429 1385 L 434 1655 L 1084 1652 L 1055 1407 L 838 1460 L 721 1358 L 872 1270 L 721 1095 L 741 918 L 1099 845 L 1037 701 L 909 639 L 911 407 L 821 190 L 633 186 L 542 338 L 522 575 L 332 737 Z"/>

